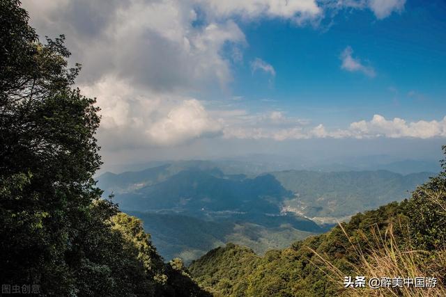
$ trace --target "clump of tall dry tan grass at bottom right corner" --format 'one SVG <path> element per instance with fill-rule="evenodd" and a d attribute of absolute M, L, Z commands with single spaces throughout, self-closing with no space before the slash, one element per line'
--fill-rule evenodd
<path fill-rule="evenodd" d="M 314 254 L 323 262 L 323 271 L 334 284 L 339 285 L 339 296 L 410 296 L 410 297 L 433 297 L 446 296 L 444 284 L 440 282 L 444 278 L 446 268 L 446 250 L 436 252 L 426 252 L 422 250 L 401 249 L 394 236 L 393 227 L 387 227 L 385 234 L 381 234 L 378 227 L 372 227 L 371 238 L 365 237 L 367 241 L 367 252 L 364 252 L 359 243 L 354 243 L 348 236 L 344 227 L 339 224 L 341 230 L 348 238 L 349 243 L 355 250 L 355 256 L 359 264 L 352 265 L 354 272 L 351 275 L 354 280 L 357 275 L 366 276 L 366 287 L 344 289 L 344 277 L 346 276 L 326 257 L 312 250 Z M 417 277 L 436 277 L 438 283 L 436 287 L 382 287 L 371 289 L 368 286 L 370 278 L 417 278 Z"/>

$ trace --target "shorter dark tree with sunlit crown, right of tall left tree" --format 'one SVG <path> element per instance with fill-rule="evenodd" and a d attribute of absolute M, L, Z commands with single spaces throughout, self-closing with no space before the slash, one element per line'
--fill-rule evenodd
<path fill-rule="evenodd" d="M 125 236 L 133 232 L 132 226 L 114 223 L 114 216 L 122 214 L 111 202 L 97 200 L 85 212 L 84 223 L 72 230 L 77 236 L 66 252 L 66 262 L 73 271 L 75 290 L 80 296 L 153 296 L 153 275 L 146 273 L 136 247 L 150 243 Z"/>

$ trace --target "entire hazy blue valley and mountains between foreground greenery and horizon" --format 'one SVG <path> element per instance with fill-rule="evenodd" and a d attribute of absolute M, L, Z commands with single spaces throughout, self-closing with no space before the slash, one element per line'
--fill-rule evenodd
<path fill-rule="evenodd" d="M 284 248 L 359 211 L 403 200 L 433 175 L 416 172 L 420 166 L 429 168 L 428 162 L 410 160 L 376 165 L 410 172 L 406 175 L 389 170 L 274 170 L 284 165 L 240 159 L 146 166 L 105 172 L 98 186 L 104 196 L 113 193 L 123 211 L 144 220 L 162 256 L 187 262 L 227 242 L 259 254 Z"/>

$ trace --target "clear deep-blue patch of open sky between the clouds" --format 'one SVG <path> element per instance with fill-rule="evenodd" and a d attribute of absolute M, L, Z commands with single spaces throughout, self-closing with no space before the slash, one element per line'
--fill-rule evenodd
<path fill-rule="evenodd" d="M 408 1 L 401 13 L 381 20 L 370 10 L 342 11 L 328 28 L 282 19 L 240 22 L 249 46 L 245 63 L 234 64 L 231 90 L 243 96 L 240 106 L 280 109 L 332 126 L 376 113 L 441 120 L 446 111 L 445 15 L 444 1 L 428 6 Z M 340 56 L 348 46 L 376 77 L 341 69 Z M 252 73 L 247 61 L 256 57 L 274 67 L 275 77 Z"/>

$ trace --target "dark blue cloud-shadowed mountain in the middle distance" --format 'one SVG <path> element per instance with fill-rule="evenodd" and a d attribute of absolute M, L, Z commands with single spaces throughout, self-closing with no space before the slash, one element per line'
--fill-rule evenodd
<path fill-rule="evenodd" d="M 116 202 L 126 210 L 256 210 L 278 213 L 278 200 L 291 195 L 272 175 L 231 179 L 220 174 L 218 170 L 184 170 L 164 182 L 116 195 Z"/>

